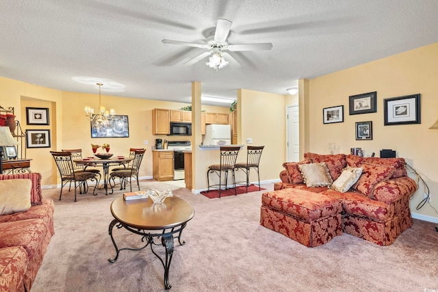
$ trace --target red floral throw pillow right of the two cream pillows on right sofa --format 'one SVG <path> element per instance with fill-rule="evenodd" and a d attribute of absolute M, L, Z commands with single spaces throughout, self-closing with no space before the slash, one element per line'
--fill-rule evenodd
<path fill-rule="evenodd" d="M 362 175 L 352 186 L 353 189 L 360 191 L 363 196 L 373 198 L 372 191 L 374 186 L 381 181 L 387 181 L 394 174 L 394 168 L 383 165 L 362 164 Z"/>

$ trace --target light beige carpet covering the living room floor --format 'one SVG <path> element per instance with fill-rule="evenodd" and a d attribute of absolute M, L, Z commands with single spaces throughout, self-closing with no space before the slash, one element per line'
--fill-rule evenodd
<path fill-rule="evenodd" d="M 273 185 L 262 185 L 265 191 Z M 188 189 L 142 181 L 141 189 L 172 189 L 190 202 L 194 218 L 175 241 L 170 291 L 426 291 L 438 289 L 435 224 L 414 220 L 393 245 L 381 247 L 344 234 L 306 248 L 259 224 L 261 194 L 209 199 Z M 136 188 L 134 189 L 136 190 Z M 108 235 L 110 204 L 122 191 L 63 194 L 55 201 L 53 236 L 32 292 L 164 291 L 164 269 L 151 250 L 120 252 Z M 114 229 L 116 242 L 140 246 L 140 236 Z M 119 247 L 121 247 L 119 245 Z M 155 250 L 160 250 L 160 247 Z M 164 254 L 164 248 L 160 250 Z M 436 290 L 435 290 L 436 291 Z"/>

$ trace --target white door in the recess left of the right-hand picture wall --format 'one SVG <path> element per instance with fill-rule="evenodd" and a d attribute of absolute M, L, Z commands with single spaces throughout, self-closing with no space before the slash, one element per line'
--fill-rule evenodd
<path fill-rule="evenodd" d="M 287 144 L 286 160 L 300 161 L 300 115 L 298 105 L 288 106 L 287 109 Z"/>

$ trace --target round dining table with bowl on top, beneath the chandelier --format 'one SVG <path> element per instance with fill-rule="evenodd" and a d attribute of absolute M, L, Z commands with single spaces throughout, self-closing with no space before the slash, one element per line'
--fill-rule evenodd
<path fill-rule="evenodd" d="M 133 160 L 133 157 L 124 157 L 124 156 L 116 156 L 110 158 L 99 158 L 99 157 L 85 157 L 81 159 L 75 159 L 75 162 L 78 165 L 83 165 L 83 170 L 87 170 L 88 166 L 102 166 L 103 168 L 103 185 L 99 187 L 96 185 L 97 189 L 105 189 L 105 195 L 108 194 L 108 185 L 111 187 L 111 193 L 114 192 L 112 185 L 109 183 L 108 178 L 110 176 L 110 166 L 114 165 L 126 165 L 129 161 Z"/>

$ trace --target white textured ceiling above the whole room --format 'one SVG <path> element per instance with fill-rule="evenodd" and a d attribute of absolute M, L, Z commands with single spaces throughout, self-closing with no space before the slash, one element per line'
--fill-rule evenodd
<path fill-rule="evenodd" d="M 206 96 L 237 89 L 286 94 L 313 78 L 438 42 L 435 0 L 3 0 L 0 75 L 71 92 L 96 93 L 72 77 L 126 85 L 115 96 L 190 103 L 191 82 Z M 229 42 L 272 42 L 270 51 L 233 52 L 242 66 L 217 72 L 183 62 L 203 49 L 218 18 Z"/>

